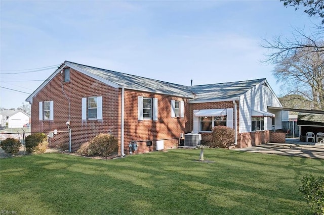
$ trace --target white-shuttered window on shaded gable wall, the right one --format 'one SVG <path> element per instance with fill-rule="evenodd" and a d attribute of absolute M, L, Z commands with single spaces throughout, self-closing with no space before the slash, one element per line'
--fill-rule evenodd
<path fill-rule="evenodd" d="M 102 120 L 102 96 L 82 98 L 82 120 Z"/>

